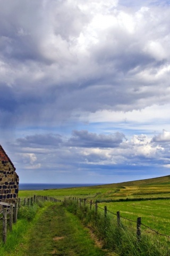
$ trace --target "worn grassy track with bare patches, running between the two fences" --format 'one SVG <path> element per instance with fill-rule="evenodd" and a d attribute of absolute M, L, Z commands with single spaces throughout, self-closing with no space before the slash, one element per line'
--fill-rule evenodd
<path fill-rule="evenodd" d="M 24 256 L 111 255 L 96 247 L 88 230 L 61 205 L 49 206 L 29 230 L 28 243 L 23 247 Z"/>

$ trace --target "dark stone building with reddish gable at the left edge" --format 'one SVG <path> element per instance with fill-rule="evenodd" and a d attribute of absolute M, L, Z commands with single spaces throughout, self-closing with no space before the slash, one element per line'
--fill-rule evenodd
<path fill-rule="evenodd" d="M 14 203 L 18 198 L 19 177 L 10 158 L 0 145 L 0 202 Z"/>

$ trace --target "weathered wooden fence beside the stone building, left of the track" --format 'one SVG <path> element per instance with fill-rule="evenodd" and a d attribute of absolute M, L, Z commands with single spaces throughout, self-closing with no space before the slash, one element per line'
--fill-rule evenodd
<path fill-rule="evenodd" d="M 3 209 L 0 211 L 0 220 L 3 220 L 3 231 L 2 231 L 2 239 L 3 243 L 6 243 L 6 237 L 7 237 L 7 220 L 9 221 L 10 231 L 12 231 L 13 223 L 16 223 L 17 217 L 18 217 L 18 209 L 23 206 L 31 206 L 34 203 L 38 202 L 62 202 L 61 200 L 58 200 L 53 197 L 49 196 L 33 196 L 31 198 L 24 198 L 21 200 L 21 198 L 18 198 L 18 201 L 16 201 L 14 204 L 8 204 L 5 202 L 0 202 L 0 205 L 2 205 Z"/>

